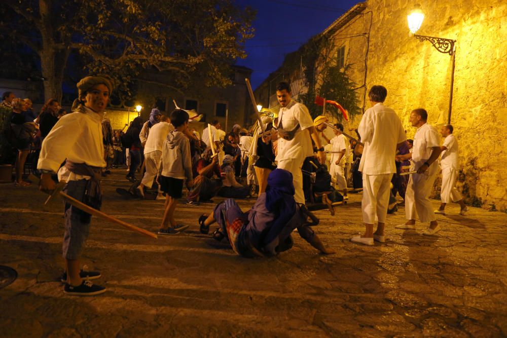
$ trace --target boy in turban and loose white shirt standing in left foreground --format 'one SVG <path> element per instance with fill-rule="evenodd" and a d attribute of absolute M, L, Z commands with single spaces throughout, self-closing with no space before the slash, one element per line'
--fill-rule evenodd
<path fill-rule="evenodd" d="M 102 144 L 102 119 L 113 84 L 107 77 L 86 77 L 78 83 L 80 104 L 73 114 L 63 116 L 44 139 L 37 169 L 42 172 L 40 190 L 51 192 L 55 182 L 51 174 L 67 182 L 63 191 L 87 205 L 99 209 L 102 203 L 101 169 L 105 167 Z M 65 165 L 60 164 L 66 159 Z M 59 169 L 60 168 L 60 169 Z M 98 272 L 80 271 L 81 254 L 90 231 L 91 215 L 65 203 L 63 292 L 70 295 L 95 295 L 105 288 L 89 280 Z"/>

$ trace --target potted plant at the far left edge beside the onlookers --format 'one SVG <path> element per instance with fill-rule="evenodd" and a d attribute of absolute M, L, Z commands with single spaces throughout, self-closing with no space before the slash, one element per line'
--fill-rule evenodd
<path fill-rule="evenodd" d="M 0 106 L 0 182 L 12 182 L 12 169 L 16 157 L 8 139 L 11 128 L 11 112 L 8 107 Z"/>

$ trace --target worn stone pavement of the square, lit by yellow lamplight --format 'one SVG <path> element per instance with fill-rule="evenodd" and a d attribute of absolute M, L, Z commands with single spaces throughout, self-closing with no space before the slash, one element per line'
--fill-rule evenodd
<path fill-rule="evenodd" d="M 124 174 L 104 179 L 102 210 L 156 231 L 163 201 L 124 200 L 114 192 L 128 186 Z M 158 240 L 94 218 L 84 263 L 102 272 L 107 291 L 73 297 L 58 282 L 61 206 L 43 211 L 46 196 L 34 186 L 0 190 L 0 265 L 19 274 L 0 289 L 3 337 L 507 335 L 505 213 L 460 216 L 449 205 L 439 236 L 426 237 L 422 224 L 394 230 L 402 207 L 388 216 L 387 243 L 367 247 L 349 242 L 364 231 L 361 195 L 352 194 L 336 216 L 316 212 L 315 229 L 336 254 L 296 234 L 293 249 L 259 259 L 199 233 L 196 220 L 212 205 L 179 205 L 177 221 L 191 228 Z"/>

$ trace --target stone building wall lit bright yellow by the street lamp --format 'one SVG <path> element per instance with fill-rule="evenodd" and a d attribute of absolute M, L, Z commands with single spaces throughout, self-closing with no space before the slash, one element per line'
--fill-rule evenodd
<path fill-rule="evenodd" d="M 507 2 L 417 3 L 425 15 L 417 34 L 456 40 L 451 124 L 460 145 L 459 188 L 468 203 L 505 211 Z M 277 110 L 273 96 L 276 82 L 289 80 L 295 84 L 293 94 L 302 93 L 301 68 L 315 67 L 318 86 L 322 62 L 334 62 L 343 66 L 357 84 L 357 105 L 361 108 L 369 107 L 365 94 L 372 85 L 387 88 L 385 103 L 399 114 L 409 138 L 415 133 L 409 115 L 416 107 L 426 108 L 428 123 L 437 127 L 447 123 L 451 57 L 428 41 L 421 43 L 409 35 L 407 14 L 415 4 L 406 0 L 368 0 L 354 6 L 321 33 L 334 42 L 322 51 L 325 57 L 315 65 L 292 68 L 287 68 L 285 60 L 256 89 L 257 99 L 264 104 L 269 101 Z M 302 92 L 294 93 L 295 88 Z M 353 119 L 351 125 L 357 126 L 359 121 L 360 117 Z"/>

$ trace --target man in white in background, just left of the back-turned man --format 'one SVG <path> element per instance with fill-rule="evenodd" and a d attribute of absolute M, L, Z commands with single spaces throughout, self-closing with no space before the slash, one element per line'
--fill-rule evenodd
<path fill-rule="evenodd" d="M 345 179 L 345 165 L 347 163 L 347 142 L 348 140 L 342 134 L 343 125 L 335 124 L 338 129 L 333 129 L 335 137 L 330 140 L 331 147 L 331 163 L 329 165 L 329 173 L 331 177 L 336 179 L 336 189 L 343 192 L 343 199 L 348 200 L 347 196 L 347 180 Z"/>

